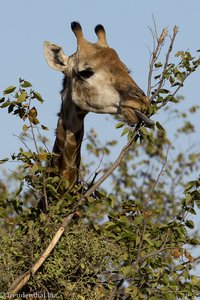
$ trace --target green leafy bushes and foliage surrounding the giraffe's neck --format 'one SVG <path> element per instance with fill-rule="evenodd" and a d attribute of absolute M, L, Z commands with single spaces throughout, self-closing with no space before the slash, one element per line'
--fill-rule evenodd
<path fill-rule="evenodd" d="M 196 133 L 192 119 L 199 106 L 187 111 L 175 108 L 183 101 L 176 93 L 199 60 L 188 51 L 179 51 L 176 57 L 177 64 L 154 63 L 158 73 L 151 86 L 150 113 L 163 108 L 170 122 L 179 119 L 178 125 L 171 124 L 174 132 L 168 134 L 159 121 L 152 128 L 143 123 L 138 127 L 134 144 L 108 178 L 107 190 L 98 187 L 76 208 L 54 251 L 21 293 L 44 293 L 47 299 L 52 293 L 56 299 L 72 300 L 175 300 L 200 294 L 199 276 L 193 271 L 199 262 L 193 250 L 200 246 L 193 220 L 200 208 L 200 152 L 196 147 L 176 147 Z M 161 79 L 162 86 L 156 89 Z M 48 167 L 53 154 L 41 134 L 48 128 L 40 123 L 37 102 L 42 104 L 42 96 L 22 79 L 19 88 L 9 86 L 0 99 L 0 107 L 22 121 L 23 145 L 11 157 L 19 164 L 17 172 L 0 181 L 0 290 L 4 293 L 41 256 L 85 189 L 79 184 L 69 193 L 69 183 Z M 121 122 L 116 130 L 129 140 L 134 134 Z M 115 140 L 101 145 L 91 130 L 86 148 L 104 171 L 113 162 L 104 165 L 102 157 L 116 145 Z M 7 161 L 0 163 L 6 166 Z M 91 174 L 90 167 L 82 166 L 82 177 Z M 48 201 L 47 214 L 38 208 L 41 198 Z"/>

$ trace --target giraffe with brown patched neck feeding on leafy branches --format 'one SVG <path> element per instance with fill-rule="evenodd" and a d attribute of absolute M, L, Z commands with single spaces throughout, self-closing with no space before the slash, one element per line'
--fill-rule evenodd
<path fill-rule="evenodd" d="M 77 50 L 70 56 L 60 46 L 44 42 L 48 65 L 64 74 L 52 164 L 69 181 L 69 189 L 78 180 L 87 113 L 119 114 L 132 126 L 140 122 L 140 112 L 149 107 L 149 99 L 116 51 L 108 46 L 104 27 L 95 27 L 98 41 L 94 44 L 85 39 L 78 22 L 72 22 L 71 29 Z"/>

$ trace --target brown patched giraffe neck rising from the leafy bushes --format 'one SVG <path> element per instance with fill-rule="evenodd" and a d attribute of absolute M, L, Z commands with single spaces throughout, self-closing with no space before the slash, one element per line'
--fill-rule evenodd
<path fill-rule="evenodd" d="M 53 166 L 69 181 L 69 189 L 71 189 L 79 177 L 80 151 L 86 113 L 72 102 L 66 80 L 61 96 L 62 106 L 53 147 L 53 152 L 56 154 L 53 158 Z"/>

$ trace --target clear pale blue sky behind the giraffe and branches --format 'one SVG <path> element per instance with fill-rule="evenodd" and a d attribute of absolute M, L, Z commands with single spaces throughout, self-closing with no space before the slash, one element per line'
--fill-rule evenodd
<path fill-rule="evenodd" d="M 148 27 L 153 25 L 152 15 L 158 31 L 163 27 L 172 30 L 175 24 L 179 26 L 175 50 L 189 49 L 194 53 L 200 48 L 199 11 L 198 0 L 1 1 L 0 92 L 9 85 L 17 84 L 19 77 L 32 82 L 45 99 L 39 117 L 50 129 L 52 145 L 60 107 L 62 75 L 46 64 L 42 49 L 44 40 L 62 45 L 65 53 L 70 55 L 76 50 L 70 23 L 79 21 L 90 41 L 96 40 L 95 25 L 102 23 L 109 45 L 117 50 L 122 61 L 132 70 L 135 81 L 146 91 L 148 47 L 152 46 Z M 194 74 L 182 90 L 188 104 L 199 102 L 199 75 L 199 72 Z M 88 131 L 94 127 L 102 143 L 106 143 L 110 138 L 120 139 L 115 123 L 111 118 L 105 120 L 105 116 L 90 114 L 85 129 Z M 0 137 L 4 141 L 0 147 L 0 158 L 3 158 L 15 152 L 20 145 L 15 135 L 20 133 L 22 124 L 16 117 L 0 111 L 0 125 Z M 84 156 L 87 159 L 87 153 Z"/>

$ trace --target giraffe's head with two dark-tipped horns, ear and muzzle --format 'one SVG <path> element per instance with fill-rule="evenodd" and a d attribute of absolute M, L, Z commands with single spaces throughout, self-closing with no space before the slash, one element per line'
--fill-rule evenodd
<path fill-rule="evenodd" d="M 74 54 L 67 56 L 50 42 L 44 42 L 44 53 L 49 66 L 66 76 L 72 102 L 84 112 L 120 114 L 128 124 L 138 123 L 135 110 L 147 111 L 149 100 L 108 46 L 104 27 L 95 27 L 95 44 L 85 39 L 79 23 L 71 28 L 77 39 Z"/>

